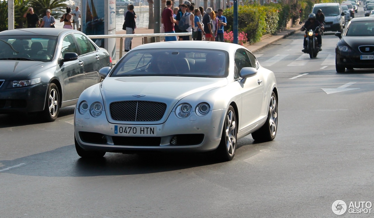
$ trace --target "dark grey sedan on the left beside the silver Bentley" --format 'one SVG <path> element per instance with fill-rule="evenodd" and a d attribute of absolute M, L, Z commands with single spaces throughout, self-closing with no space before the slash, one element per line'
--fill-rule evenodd
<path fill-rule="evenodd" d="M 39 112 L 54 121 L 111 67 L 107 50 L 73 29 L 0 32 L 0 113 Z"/>

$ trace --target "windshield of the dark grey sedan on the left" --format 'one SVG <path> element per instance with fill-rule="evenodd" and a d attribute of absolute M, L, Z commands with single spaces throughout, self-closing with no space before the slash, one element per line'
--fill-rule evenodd
<path fill-rule="evenodd" d="M 57 37 L 30 35 L 0 36 L 0 60 L 36 60 L 48 62 L 55 53 Z"/>

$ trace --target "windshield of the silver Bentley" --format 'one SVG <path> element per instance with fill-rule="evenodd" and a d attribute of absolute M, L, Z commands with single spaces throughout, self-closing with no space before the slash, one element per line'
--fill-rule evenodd
<path fill-rule="evenodd" d="M 208 49 L 134 50 L 120 60 L 110 77 L 175 76 L 224 78 L 228 54 Z"/>

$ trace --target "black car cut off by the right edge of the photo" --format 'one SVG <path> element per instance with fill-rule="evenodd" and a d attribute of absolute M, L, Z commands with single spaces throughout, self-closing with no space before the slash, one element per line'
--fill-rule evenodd
<path fill-rule="evenodd" d="M 340 38 L 335 49 L 336 72 L 374 68 L 374 17 L 354 18 L 344 33 L 335 35 Z"/>

